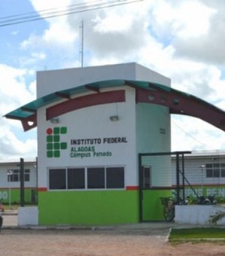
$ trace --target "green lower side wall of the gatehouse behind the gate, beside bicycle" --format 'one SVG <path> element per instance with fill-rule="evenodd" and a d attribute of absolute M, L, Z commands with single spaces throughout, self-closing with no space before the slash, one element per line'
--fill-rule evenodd
<path fill-rule="evenodd" d="M 160 197 L 171 197 L 171 190 L 142 191 L 142 221 L 164 221 Z"/>

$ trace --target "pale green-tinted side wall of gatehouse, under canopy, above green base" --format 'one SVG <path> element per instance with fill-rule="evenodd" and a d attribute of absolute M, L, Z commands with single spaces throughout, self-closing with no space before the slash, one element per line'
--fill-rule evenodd
<path fill-rule="evenodd" d="M 136 105 L 136 143 L 136 154 L 171 150 L 169 108 L 147 103 Z M 171 186 L 170 155 L 142 157 L 142 166 L 151 166 L 151 186 Z"/>

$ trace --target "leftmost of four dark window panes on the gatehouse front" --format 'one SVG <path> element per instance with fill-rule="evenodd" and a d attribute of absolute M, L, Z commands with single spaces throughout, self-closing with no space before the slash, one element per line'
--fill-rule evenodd
<path fill-rule="evenodd" d="M 66 170 L 49 169 L 49 189 L 66 188 Z"/>

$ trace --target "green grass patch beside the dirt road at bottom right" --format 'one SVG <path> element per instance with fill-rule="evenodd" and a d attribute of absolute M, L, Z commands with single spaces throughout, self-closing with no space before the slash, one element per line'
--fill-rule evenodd
<path fill-rule="evenodd" d="M 169 242 L 224 242 L 225 228 L 196 227 L 172 229 L 169 233 Z"/>

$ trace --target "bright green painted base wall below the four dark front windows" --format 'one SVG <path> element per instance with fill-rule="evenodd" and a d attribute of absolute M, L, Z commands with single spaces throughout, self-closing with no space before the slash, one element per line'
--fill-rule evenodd
<path fill-rule="evenodd" d="M 139 222 L 139 191 L 46 191 L 38 194 L 39 224 Z"/>

